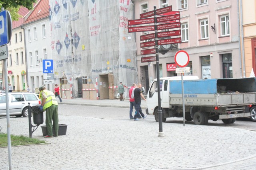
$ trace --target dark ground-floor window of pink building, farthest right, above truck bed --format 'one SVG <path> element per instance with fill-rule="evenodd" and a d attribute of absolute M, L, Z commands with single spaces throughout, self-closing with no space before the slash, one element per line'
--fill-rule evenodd
<path fill-rule="evenodd" d="M 222 54 L 223 78 L 233 78 L 232 55 Z"/>

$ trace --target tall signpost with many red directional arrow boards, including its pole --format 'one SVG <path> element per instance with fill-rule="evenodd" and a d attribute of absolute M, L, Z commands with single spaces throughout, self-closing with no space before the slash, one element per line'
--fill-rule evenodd
<path fill-rule="evenodd" d="M 167 15 L 167 16 L 157 17 L 157 15 Z M 154 16 L 154 18 L 148 18 L 152 16 Z M 154 25 L 131 27 L 131 25 L 151 24 L 151 23 L 154 23 Z M 160 24 L 160 23 L 166 23 L 166 24 Z M 155 31 L 155 33 L 150 33 L 150 34 L 140 36 L 141 41 L 149 40 L 149 41 L 140 43 L 141 48 L 155 46 L 152 49 L 141 50 L 140 55 L 156 54 L 156 56 L 141 57 L 141 62 L 146 63 L 146 62 L 156 61 L 158 108 L 161 108 L 158 45 L 181 43 L 180 37 L 171 38 L 171 36 L 180 36 L 181 31 L 172 30 L 172 31 L 157 32 L 157 30 L 180 28 L 180 12 L 179 11 L 172 12 L 172 6 L 166 6 L 164 8 L 160 8 L 157 10 L 156 10 L 156 6 L 154 6 L 154 11 L 149 11 L 149 12 L 140 14 L 139 20 L 128 20 L 128 25 L 130 26 L 128 27 L 129 33 Z M 168 37 L 168 38 L 158 39 L 162 37 Z M 151 39 L 154 39 L 154 41 L 151 41 Z M 162 130 L 162 109 L 158 109 L 158 120 L 159 120 L 158 137 L 164 137 L 164 133 Z"/>

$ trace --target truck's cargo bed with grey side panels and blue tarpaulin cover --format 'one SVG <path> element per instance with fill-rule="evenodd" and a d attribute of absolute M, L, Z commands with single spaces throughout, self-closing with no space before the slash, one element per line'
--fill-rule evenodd
<path fill-rule="evenodd" d="M 256 104 L 255 78 L 184 80 L 186 106 Z M 170 81 L 170 105 L 182 105 L 181 81 Z"/>

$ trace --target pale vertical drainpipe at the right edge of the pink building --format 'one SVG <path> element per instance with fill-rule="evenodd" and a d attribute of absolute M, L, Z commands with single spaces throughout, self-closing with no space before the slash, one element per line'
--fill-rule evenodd
<path fill-rule="evenodd" d="M 245 57 L 244 57 L 244 27 L 243 27 L 243 9 L 242 9 L 242 0 L 240 0 L 240 6 L 239 6 L 239 0 L 237 0 L 238 3 L 238 25 L 239 25 L 239 36 L 240 36 L 240 22 L 239 22 L 239 18 L 241 18 L 241 33 L 242 33 L 242 62 L 243 62 L 243 66 L 242 66 L 242 70 L 243 70 L 243 77 L 245 76 Z M 240 8 L 240 9 L 239 9 Z M 240 14 L 239 15 L 239 10 L 240 10 Z M 239 38 L 240 40 L 240 38 Z M 239 47 L 240 47 L 240 43 L 239 43 Z M 240 50 L 241 51 L 241 50 Z"/>

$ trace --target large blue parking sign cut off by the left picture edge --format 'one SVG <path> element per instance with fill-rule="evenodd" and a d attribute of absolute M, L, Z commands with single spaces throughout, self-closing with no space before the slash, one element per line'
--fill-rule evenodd
<path fill-rule="evenodd" d="M 7 11 L 0 12 L 0 46 L 9 42 Z"/>

